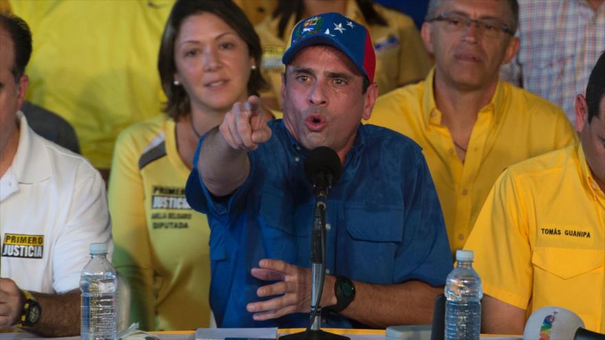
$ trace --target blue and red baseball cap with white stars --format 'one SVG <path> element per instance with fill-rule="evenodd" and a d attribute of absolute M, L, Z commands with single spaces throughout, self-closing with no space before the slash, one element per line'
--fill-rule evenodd
<path fill-rule="evenodd" d="M 340 13 L 329 12 L 299 21 L 290 35 L 282 63 L 288 65 L 301 49 L 311 45 L 330 45 L 346 54 L 355 66 L 374 82 L 376 56 L 368 29 Z"/>

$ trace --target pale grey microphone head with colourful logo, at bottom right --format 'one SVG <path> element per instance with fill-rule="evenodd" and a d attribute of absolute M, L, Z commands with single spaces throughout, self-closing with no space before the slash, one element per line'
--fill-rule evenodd
<path fill-rule="evenodd" d="M 569 309 L 542 307 L 527 319 L 523 340 L 569 340 L 577 328 L 584 328 L 584 321 Z"/>

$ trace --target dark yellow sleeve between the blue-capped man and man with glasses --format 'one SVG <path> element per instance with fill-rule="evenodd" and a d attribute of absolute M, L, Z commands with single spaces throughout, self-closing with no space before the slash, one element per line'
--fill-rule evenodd
<path fill-rule="evenodd" d="M 404 25 L 399 27 L 401 36 L 401 56 L 399 57 L 398 86 L 413 84 L 426 78 L 433 61 L 424 47 L 420 33 L 414 21 L 401 21 Z"/>

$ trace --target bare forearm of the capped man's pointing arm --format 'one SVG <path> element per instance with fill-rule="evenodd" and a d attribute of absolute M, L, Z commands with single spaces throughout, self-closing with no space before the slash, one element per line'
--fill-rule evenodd
<path fill-rule="evenodd" d="M 206 188 L 226 196 L 239 188 L 250 173 L 248 152 L 235 150 L 221 136 L 219 126 L 208 132 L 201 146 L 197 168 Z"/>

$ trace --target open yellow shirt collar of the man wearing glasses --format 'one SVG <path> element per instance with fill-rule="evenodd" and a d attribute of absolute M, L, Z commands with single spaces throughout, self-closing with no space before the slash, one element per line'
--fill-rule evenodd
<path fill-rule="evenodd" d="M 423 117 L 426 126 L 432 125 L 441 125 L 441 111 L 437 109 L 437 104 L 434 99 L 434 73 L 435 67 L 433 67 L 428 76 L 426 76 L 424 80 L 424 93 L 422 96 L 422 107 L 423 107 Z M 479 111 L 479 114 L 486 113 L 489 115 L 494 115 L 496 123 L 502 117 L 502 113 L 505 107 L 506 100 L 506 91 L 505 85 L 503 81 L 498 80 L 498 84 L 496 84 L 496 91 L 494 91 L 494 95 L 492 96 L 492 100 L 487 103 L 487 105 L 483 106 L 483 109 Z"/>

